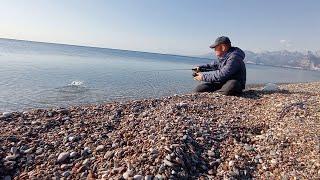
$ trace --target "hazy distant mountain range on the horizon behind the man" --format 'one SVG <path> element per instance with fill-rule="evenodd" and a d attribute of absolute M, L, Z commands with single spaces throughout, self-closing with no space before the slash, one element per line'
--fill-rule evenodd
<path fill-rule="evenodd" d="M 291 52 L 283 50 L 264 51 L 260 53 L 245 51 L 245 53 L 245 62 L 250 64 L 292 67 L 320 71 L 320 50 L 316 52 Z M 213 54 L 206 54 L 200 57 L 212 59 Z"/>

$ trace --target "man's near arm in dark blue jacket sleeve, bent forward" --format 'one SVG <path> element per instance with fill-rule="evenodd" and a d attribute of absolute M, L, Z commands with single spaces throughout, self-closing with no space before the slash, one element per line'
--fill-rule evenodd
<path fill-rule="evenodd" d="M 227 60 L 227 64 L 221 69 L 209 73 L 203 73 L 202 81 L 206 82 L 226 82 L 233 74 L 240 69 L 240 60 L 236 58 L 230 58 Z"/>

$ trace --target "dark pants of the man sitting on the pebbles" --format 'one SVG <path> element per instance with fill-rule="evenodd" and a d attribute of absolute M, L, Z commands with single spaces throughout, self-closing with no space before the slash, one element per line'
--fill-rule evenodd
<path fill-rule="evenodd" d="M 238 96 L 242 93 L 242 87 L 239 81 L 229 80 L 224 84 L 221 83 L 202 83 L 199 84 L 195 92 L 219 92 L 224 95 Z"/>

